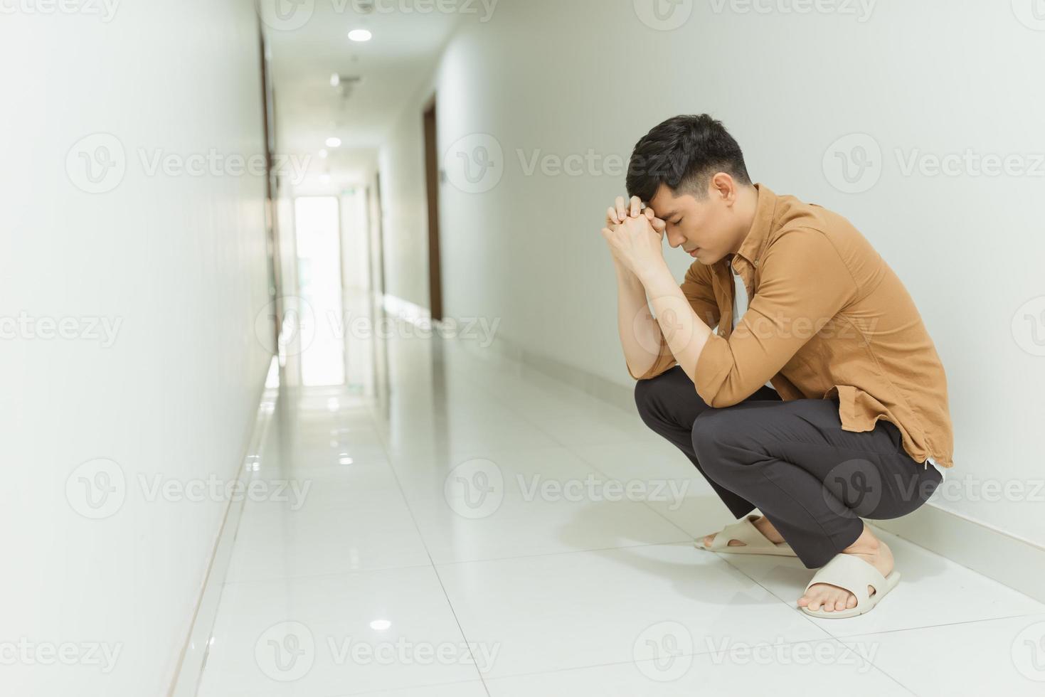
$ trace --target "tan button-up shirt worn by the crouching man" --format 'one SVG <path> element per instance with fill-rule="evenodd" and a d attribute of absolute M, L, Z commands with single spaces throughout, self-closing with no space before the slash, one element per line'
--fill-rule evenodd
<path fill-rule="evenodd" d="M 681 284 L 697 317 L 718 327 L 697 358 L 697 394 L 729 406 L 769 380 L 785 401 L 837 395 L 844 431 L 891 421 L 915 462 L 952 467 L 947 376 L 900 278 L 841 215 L 754 186 L 754 224 L 738 253 L 694 262 Z M 730 263 L 750 298 L 736 330 Z M 676 363 L 661 334 L 656 363 L 631 376 Z"/>

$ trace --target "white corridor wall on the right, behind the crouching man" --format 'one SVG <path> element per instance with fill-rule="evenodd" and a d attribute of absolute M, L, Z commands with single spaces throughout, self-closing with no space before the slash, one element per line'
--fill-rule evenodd
<path fill-rule="evenodd" d="M 504 153 L 492 189 L 442 187 L 447 313 L 501 318 L 500 336 L 513 344 L 630 385 L 599 235 L 624 177 L 605 158 L 626 161 L 667 117 L 709 112 L 744 147 L 756 181 L 847 216 L 918 302 L 955 426 L 956 468 L 934 505 L 1045 544 L 1045 489 L 1035 490 L 1045 478 L 1045 357 L 1032 354 L 1045 353 L 1035 343 L 1045 300 L 1020 309 L 1045 296 L 1045 180 L 1034 157 L 1045 152 L 1045 93 L 1034 78 L 1045 31 L 1022 23 L 1013 3 L 975 0 L 872 3 L 869 16 L 855 2 L 820 6 L 856 14 L 804 15 L 785 11 L 794 2 L 757 3 L 768 13 L 682 2 L 689 20 L 658 30 L 638 19 L 652 17 L 651 3 L 502 0 L 490 22 L 462 22 L 381 153 L 389 293 L 427 302 L 420 124 L 435 90 L 440 153 L 461 138 L 468 153 L 487 143 L 474 134 L 492 135 Z M 861 180 L 859 193 L 843 192 L 825 166 L 850 134 L 868 134 L 883 154 L 873 154 L 880 181 Z M 904 160 L 1016 154 L 1038 176 L 904 173 L 898 148 Z M 602 164 L 527 176 L 517 149 L 527 161 L 590 150 Z M 691 260 L 666 251 L 681 278 Z M 1024 315 L 1040 318 L 1039 334 Z M 1006 486 L 1023 493 L 1006 498 Z"/>

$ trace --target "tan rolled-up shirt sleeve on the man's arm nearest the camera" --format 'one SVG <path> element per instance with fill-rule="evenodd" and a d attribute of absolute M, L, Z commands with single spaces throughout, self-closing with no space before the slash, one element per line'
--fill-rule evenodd
<path fill-rule="evenodd" d="M 857 294 L 856 281 L 820 231 L 785 233 L 765 251 L 759 289 L 729 339 L 712 334 L 697 357 L 697 394 L 710 406 L 743 401 Z"/>

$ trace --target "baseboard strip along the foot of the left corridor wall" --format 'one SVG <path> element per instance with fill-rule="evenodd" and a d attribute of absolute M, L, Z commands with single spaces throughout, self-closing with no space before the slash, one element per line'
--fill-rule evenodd
<path fill-rule="evenodd" d="M 254 423 L 248 437 L 247 452 L 242 463 L 236 468 L 236 477 L 239 482 L 243 482 L 249 478 L 261 461 L 265 436 L 269 432 L 269 424 L 272 421 L 273 411 L 276 408 L 278 394 L 279 359 L 273 356 L 272 362 L 269 364 L 269 373 L 265 376 L 264 387 L 261 390 L 261 398 L 258 402 Z M 210 635 L 214 628 L 214 619 L 217 615 L 217 604 L 222 598 L 222 587 L 225 583 L 226 574 L 229 571 L 229 562 L 232 560 L 232 544 L 236 538 L 236 530 L 239 528 L 239 516 L 243 510 L 243 498 L 241 496 L 239 501 L 230 501 L 225 510 L 222 528 L 217 533 L 214 547 L 211 551 L 207 575 L 196 601 L 192 626 L 189 629 L 188 637 L 182 649 L 181 659 L 175 672 L 175 678 L 170 683 L 170 689 L 167 691 L 167 697 L 195 697 L 200 686 L 200 678 L 203 675 L 204 667 L 207 665 L 207 650 L 210 648 Z"/>

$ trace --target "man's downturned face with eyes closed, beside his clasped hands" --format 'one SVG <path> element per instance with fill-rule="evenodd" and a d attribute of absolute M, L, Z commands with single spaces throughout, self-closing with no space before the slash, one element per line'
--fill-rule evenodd
<path fill-rule="evenodd" d="M 656 218 L 653 228 L 664 232 L 672 248 L 681 248 L 700 263 L 711 265 L 733 251 L 736 231 L 730 212 L 729 192 L 709 183 L 704 199 L 692 193 L 677 196 L 666 184 L 649 201 Z"/>

